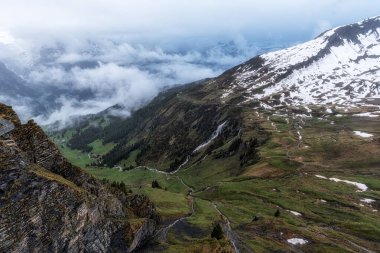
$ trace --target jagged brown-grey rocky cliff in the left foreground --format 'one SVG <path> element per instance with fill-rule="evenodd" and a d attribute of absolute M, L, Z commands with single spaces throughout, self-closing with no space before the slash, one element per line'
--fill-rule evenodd
<path fill-rule="evenodd" d="M 145 197 L 102 184 L 71 165 L 34 122 L 11 107 L 0 118 L 0 252 L 132 252 L 155 232 Z"/>

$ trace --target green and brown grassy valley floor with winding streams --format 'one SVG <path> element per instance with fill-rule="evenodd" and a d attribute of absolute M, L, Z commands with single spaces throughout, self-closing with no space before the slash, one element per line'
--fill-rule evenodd
<path fill-rule="evenodd" d="M 247 119 L 271 138 L 260 148 L 260 162 L 244 169 L 203 154 L 175 173 L 86 167 L 94 154 L 54 140 L 90 174 L 122 181 L 155 203 L 162 229 L 142 252 L 378 252 L 380 117 L 260 111 Z M 159 188 L 152 188 L 154 180 Z M 219 241 L 210 236 L 217 223 L 225 235 Z"/>

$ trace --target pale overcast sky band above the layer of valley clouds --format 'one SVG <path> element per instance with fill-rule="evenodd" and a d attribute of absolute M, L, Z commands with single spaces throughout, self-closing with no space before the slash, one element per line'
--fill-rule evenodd
<path fill-rule="evenodd" d="M 170 48 L 238 35 L 306 40 L 376 15 L 380 0 L 2 0 L 0 27 L 34 39 L 123 34 Z"/>

